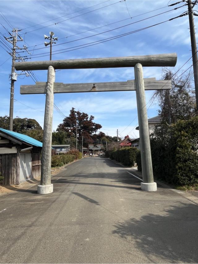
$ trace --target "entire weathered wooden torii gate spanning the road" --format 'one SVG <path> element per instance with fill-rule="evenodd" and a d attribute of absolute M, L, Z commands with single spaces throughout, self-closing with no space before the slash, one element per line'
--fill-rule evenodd
<path fill-rule="evenodd" d="M 157 184 L 153 180 L 153 167 L 149 140 L 149 125 L 144 90 L 171 89 L 171 80 L 156 81 L 155 78 L 143 79 L 143 66 L 175 66 L 176 62 L 176 53 L 131 57 L 16 62 L 16 70 L 48 70 L 46 83 L 37 82 L 36 85 L 20 86 L 21 94 L 46 93 L 41 164 L 41 185 L 38 185 L 38 193 L 49 194 L 53 192 L 53 184 L 51 184 L 51 146 L 54 93 L 109 92 L 132 90 L 136 90 L 138 122 L 140 131 L 140 151 L 143 176 L 143 182 L 141 182 L 141 189 L 146 191 L 156 191 Z M 128 80 L 127 82 L 106 82 L 94 84 L 54 83 L 55 70 L 58 69 L 116 67 L 134 67 L 135 80 Z"/>

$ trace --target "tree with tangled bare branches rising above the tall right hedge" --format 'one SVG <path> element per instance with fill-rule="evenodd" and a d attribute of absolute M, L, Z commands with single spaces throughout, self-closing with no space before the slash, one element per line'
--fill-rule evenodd
<path fill-rule="evenodd" d="M 157 90 L 155 94 L 159 100 L 159 114 L 162 121 L 175 123 L 178 120 L 188 120 L 195 116 L 195 92 L 191 88 L 192 72 L 189 71 L 179 77 L 167 68 L 163 69 L 164 79 L 171 79 L 171 90 Z"/>

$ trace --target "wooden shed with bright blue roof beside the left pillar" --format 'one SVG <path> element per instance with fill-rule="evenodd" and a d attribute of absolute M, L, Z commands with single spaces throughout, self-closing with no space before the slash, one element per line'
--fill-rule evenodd
<path fill-rule="evenodd" d="M 3 185 L 16 185 L 41 176 L 42 143 L 0 128 L 0 173 Z"/>

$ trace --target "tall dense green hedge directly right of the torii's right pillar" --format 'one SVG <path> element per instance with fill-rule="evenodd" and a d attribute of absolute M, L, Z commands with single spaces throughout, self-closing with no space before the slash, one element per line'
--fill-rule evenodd
<path fill-rule="evenodd" d="M 150 140 L 153 175 L 174 185 L 198 183 L 198 117 L 178 121 Z M 140 154 L 136 162 L 141 170 Z"/>

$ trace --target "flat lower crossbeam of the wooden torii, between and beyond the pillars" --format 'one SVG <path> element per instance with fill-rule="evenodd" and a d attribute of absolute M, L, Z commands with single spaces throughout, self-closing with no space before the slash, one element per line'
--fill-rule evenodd
<path fill-rule="evenodd" d="M 153 79 L 153 78 L 150 78 Z M 145 90 L 171 89 L 171 80 L 144 79 Z M 20 94 L 46 93 L 47 83 L 38 82 L 36 85 L 21 85 Z M 136 90 L 135 80 L 127 82 L 105 82 L 105 83 L 54 83 L 54 93 L 75 92 L 118 92 Z"/>

